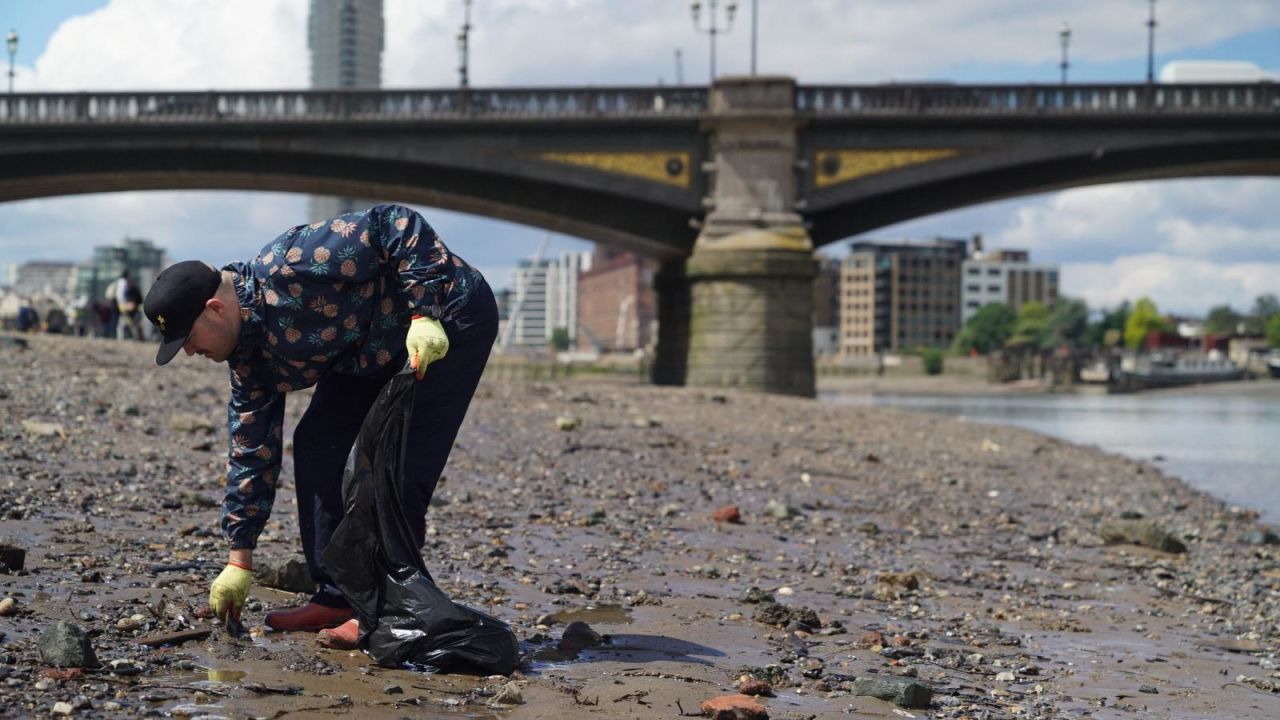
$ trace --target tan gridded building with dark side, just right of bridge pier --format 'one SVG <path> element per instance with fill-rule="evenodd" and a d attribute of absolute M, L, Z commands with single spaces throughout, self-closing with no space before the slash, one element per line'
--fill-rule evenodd
<path fill-rule="evenodd" d="M 840 282 L 842 355 L 951 345 L 960 329 L 960 265 L 968 242 L 858 241 Z"/>

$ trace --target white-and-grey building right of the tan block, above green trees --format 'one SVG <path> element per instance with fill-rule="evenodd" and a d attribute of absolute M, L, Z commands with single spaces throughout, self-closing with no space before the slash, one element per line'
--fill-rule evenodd
<path fill-rule="evenodd" d="M 978 245 L 964 261 L 961 282 L 961 323 L 992 302 L 1004 302 L 1014 313 L 1033 300 L 1057 302 L 1057 265 L 1033 265 L 1025 250 L 983 252 Z"/>

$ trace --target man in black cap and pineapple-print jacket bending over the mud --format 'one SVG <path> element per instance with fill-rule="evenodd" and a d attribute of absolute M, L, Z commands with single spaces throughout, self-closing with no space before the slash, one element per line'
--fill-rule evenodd
<path fill-rule="evenodd" d="M 257 258 L 220 272 L 178 263 L 160 273 L 143 306 L 164 334 L 157 364 L 183 350 L 230 366 L 221 520 L 230 553 L 209 593 L 219 616 L 238 618 L 248 597 L 253 547 L 280 474 L 285 397 L 315 386 L 293 433 L 293 466 L 302 550 L 320 591 L 303 607 L 269 614 L 266 624 L 321 630 L 321 643 L 355 647 L 357 621 L 320 562 L 343 516 L 347 455 L 407 360 L 422 382 L 401 501 L 422 547 L 431 495 L 498 332 L 488 283 L 421 215 L 379 205 L 292 228 Z"/>

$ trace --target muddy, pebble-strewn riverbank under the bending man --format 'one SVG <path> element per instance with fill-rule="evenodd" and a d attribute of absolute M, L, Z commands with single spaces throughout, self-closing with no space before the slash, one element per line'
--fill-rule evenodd
<path fill-rule="evenodd" d="M 1251 514 L 1018 429 L 617 382 L 484 383 L 428 516 L 440 587 L 521 639 L 515 687 L 310 634 L 148 647 L 207 626 L 225 368 L 26 340 L 0 338 L 0 542 L 26 550 L 0 716 L 671 717 L 744 674 L 771 717 L 1280 716 L 1280 546 Z M 1126 519 L 1185 552 L 1107 544 Z M 260 555 L 296 523 L 287 459 Z M 300 597 L 256 585 L 246 621 Z M 605 642 L 556 652 L 575 619 Z M 41 661 L 56 620 L 100 667 Z M 854 694 L 884 678 L 929 706 Z"/>

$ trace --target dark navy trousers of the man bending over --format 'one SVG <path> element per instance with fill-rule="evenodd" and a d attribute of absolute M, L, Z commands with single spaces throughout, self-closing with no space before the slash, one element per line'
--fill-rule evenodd
<path fill-rule="evenodd" d="M 443 324 L 449 337 L 449 352 L 426 368 L 417 386 L 404 448 L 401 507 L 419 548 L 426 538 L 426 509 L 435 483 L 453 450 L 453 441 L 498 336 L 498 306 L 489 286 L 481 283 L 476 287 L 467 304 Z M 323 605 L 346 605 L 320 566 L 320 555 L 342 521 L 342 474 L 347 455 L 365 415 L 390 377 L 334 374 L 320 378 L 311 405 L 293 430 L 293 474 L 302 551 L 311 577 L 320 585 L 314 601 Z"/>

